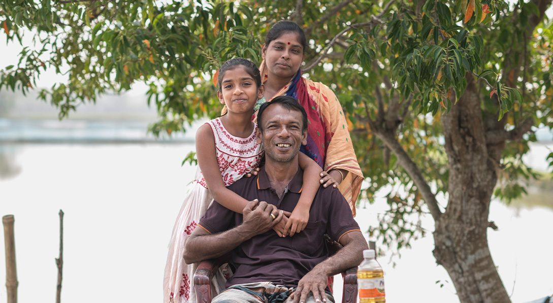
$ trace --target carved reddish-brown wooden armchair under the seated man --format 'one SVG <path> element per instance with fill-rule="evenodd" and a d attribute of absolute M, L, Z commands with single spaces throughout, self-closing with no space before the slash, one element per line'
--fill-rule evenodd
<path fill-rule="evenodd" d="M 325 235 L 326 247 L 330 255 L 335 254 L 342 248 L 342 245 L 336 241 L 332 241 Z M 374 247 L 373 242 L 369 242 L 369 246 Z M 222 257 L 204 260 L 200 263 L 194 274 L 194 289 L 196 290 L 196 300 L 198 303 L 211 303 L 211 279 L 215 275 L 219 267 L 227 263 L 229 255 Z M 342 273 L 344 279 L 342 303 L 357 302 L 357 267 L 347 269 Z"/>

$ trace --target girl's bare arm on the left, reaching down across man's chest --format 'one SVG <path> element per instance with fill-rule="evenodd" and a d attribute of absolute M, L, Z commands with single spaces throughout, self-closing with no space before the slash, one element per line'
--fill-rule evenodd
<path fill-rule="evenodd" d="M 213 200 L 233 212 L 242 213 L 248 201 L 225 187 L 217 163 L 215 137 L 209 124 L 202 125 L 196 132 L 196 157 Z"/>

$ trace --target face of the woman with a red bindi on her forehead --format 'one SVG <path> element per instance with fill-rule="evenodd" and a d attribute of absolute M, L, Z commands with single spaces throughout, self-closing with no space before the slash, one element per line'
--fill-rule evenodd
<path fill-rule="evenodd" d="M 264 44 L 261 55 L 265 59 L 269 79 L 279 77 L 289 80 L 305 59 L 304 48 L 294 32 L 281 34 L 269 45 Z"/>

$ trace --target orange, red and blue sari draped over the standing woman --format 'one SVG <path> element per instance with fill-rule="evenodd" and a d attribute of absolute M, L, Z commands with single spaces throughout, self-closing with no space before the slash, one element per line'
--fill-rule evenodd
<path fill-rule="evenodd" d="M 259 70 L 263 77 L 262 82 L 267 81 L 265 61 L 261 62 Z M 338 98 L 323 83 L 302 77 L 301 69 L 273 98 L 284 95 L 296 98 L 307 112 L 307 145 L 301 147 L 301 152 L 308 155 L 325 171 L 333 169 L 349 171 L 338 189 L 348 201 L 355 216 L 355 202 L 361 191 L 363 174 L 353 150 L 346 117 Z M 257 108 L 255 109 L 257 111 Z"/>

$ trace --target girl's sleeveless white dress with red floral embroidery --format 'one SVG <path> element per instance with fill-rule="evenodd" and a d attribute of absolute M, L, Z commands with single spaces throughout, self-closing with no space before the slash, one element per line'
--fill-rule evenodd
<path fill-rule="evenodd" d="M 256 142 L 255 129 L 248 138 L 238 138 L 227 132 L 221 123 L 221 118 L 213 119 L 206 124 L 209 124 L 215 137 L 217 163 L 225 186 L 231 185 L 257 167 L 263 156 L 263 149 Z M 196 153 L 201 152 L 201 150 L 196 150 Z M 163 277 L 164 303 L 196 302 L 192 283 L 198 264 L 186 264 L 182 253 L 186 239 L 200 218 L 204 216 L 212 201 L 213 197 L 207 189 L 204 176 L 198 167 L 192 189 L 182 203 L 179 216 L 173 227 L 173 234 L 171 234 Z M 214 289 L 217 292 L 224 289 L 226 279 L 222 272 L 216 275 L 215 280 Z"/>

